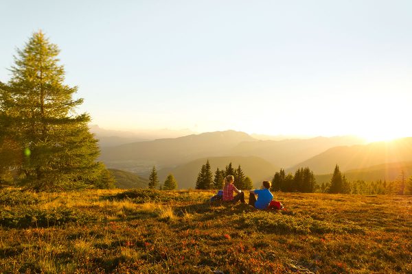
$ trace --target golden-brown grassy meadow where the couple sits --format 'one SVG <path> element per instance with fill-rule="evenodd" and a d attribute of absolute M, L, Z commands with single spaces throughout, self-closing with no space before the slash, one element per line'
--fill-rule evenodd
<path fill-rule="evenodd" d="M 412 273 L 412 197 L 0 192 L 1 273 Z M 221 271 L 221 272 L 219 272 Z"/>

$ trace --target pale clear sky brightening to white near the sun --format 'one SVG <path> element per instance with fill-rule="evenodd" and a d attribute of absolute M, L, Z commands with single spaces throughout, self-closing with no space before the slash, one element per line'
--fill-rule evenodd
<path fill-rule="evenodd" d="M 39 29 L 106 129 L 412 136 L 412 1 L 5 1 L 0 81 Z"/>

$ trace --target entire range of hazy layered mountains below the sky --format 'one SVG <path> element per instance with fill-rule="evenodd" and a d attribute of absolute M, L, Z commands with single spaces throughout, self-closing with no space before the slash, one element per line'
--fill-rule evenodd
<path fill-rule="evenodd" d="M 155 165 L 161 180 L 172 173 L 179 188 L 194 188 L 207 158 L 213 171 L 216 167 L 224 169 L 229 162 L 240 164 L 255 184 L 271 179 L 280 168 L 294 173 L 306 166 L 319 179 L 330 179 L 336 164 L 348 179 L 380 179 L 391 174 L 389 179 L 398 173 L 396 166 L 409 171 L 407 163 L 412 162 L 412 138 L 369 144 L 352 136 L 258 140 L 233 130 L 130 142 L 101 150 L 100 160 L 109 168 L 148 177 Z"/>

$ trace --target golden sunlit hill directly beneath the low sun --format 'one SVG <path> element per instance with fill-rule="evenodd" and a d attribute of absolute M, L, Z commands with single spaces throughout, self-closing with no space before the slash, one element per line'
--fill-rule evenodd
<path fill-rule="evenodd" d="M 333 147 L 309 160 L 293 166 L 287 171 L 294 172 L 299 167 L 308 166 L 315 174 L 332 173 L 334 166 L 341 171 L 365 169 L 379 164 L 412 161 L 412 137 L 391 142 L 372 142 L 368 145 Z"/>

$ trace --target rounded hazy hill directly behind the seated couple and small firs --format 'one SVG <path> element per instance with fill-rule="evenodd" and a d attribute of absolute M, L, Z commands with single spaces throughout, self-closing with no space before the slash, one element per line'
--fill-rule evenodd
<path fill-rule="evenodd" d="M 201 167 L 205 164 L 207 158 L 201 158 L 182 164 L 174 169 L 161 169 L 158 172 L 159 179 L 163 184 L 165 177 L 172 173 L 178 182 L 178 188 L 195 188 L 196 179 Z M 209 163 L 211 171 L 214 174 L 216 168 L 225 169 L 225 166 L 232 163 L 233 168 L 237 168 L 240 164 L 244 174 L 251 177 L 255 186 L 260 186 L 260 182 L 264 179 L 269 179 L 277 171 L 277 167 L 270 162 L 258 157 L 211 157 Z"/>

